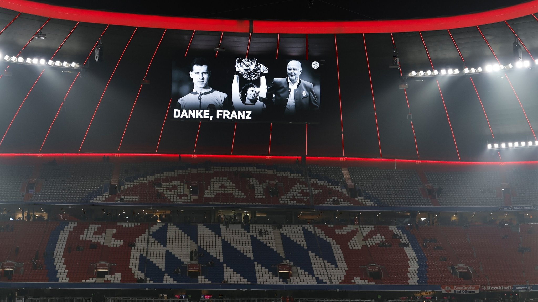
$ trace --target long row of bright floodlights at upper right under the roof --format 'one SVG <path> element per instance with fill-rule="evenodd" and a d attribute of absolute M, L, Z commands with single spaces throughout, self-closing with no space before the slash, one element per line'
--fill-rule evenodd
<path fill-rule="evenodd" d="M 535 64 L 538 64 L 538 59 L 534 61 Z M 457 76 L 457 75 L 471 75 L 471 74 L 484 74 L 484 73 L 495 73 L 497 71 L 502 70 L 509 70 L 509 69 L 520 69 L 520 68 L 531 68 L 530 61 L 517 61 L 515 62 L 515 66 L 510 64 L 502 65 L 502 64 L 488 64 L 484 68 L 477 67 L 477 68 L 464 68 L 462 70 L 459 70 L 457 68 L 449 68 L 449 69 L 441 69 L 437 70 L 420 70 L 420 71 L 411 71 L 407 76 L 402 76 L 404 78 L 412 78 L 412 77 L 434 77 L 434 76 Z"/>

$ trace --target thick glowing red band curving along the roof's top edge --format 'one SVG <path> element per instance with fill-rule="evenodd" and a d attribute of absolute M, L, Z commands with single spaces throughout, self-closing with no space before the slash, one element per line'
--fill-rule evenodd
<path fill-rule="evenodd" d="M 254 32 L 254 33 L 388 33 L 447 30 L 490 24 L 527 16 L 538 11 L 538 1 L 528 1 L 467 15 L 413 19 L 413 20 L 373 20 L 373 21 L 252 21 L 202 19 L 167 16 L 148 16 L 133 13 L 118 13 L 87 9 L 69 8 L 59 5 L 38 3 L 29 0 L 3 0 L 0 7 L 31 15 L 52 17 L 88 23 L 169 28 L 177 30 Z"/>

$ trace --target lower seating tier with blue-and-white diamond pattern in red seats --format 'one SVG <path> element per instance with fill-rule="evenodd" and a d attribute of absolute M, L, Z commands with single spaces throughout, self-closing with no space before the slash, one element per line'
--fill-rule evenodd
<path fill-rule="evenodd" d="M 11 281 L 136 282 L 239 284 L 529 284 L 535 283 L 537 235 L 497 226 L 150 224 L 134 222 L 10 221 L 13 232 L 0 232 L 0 262 L 17 262 Z M 260 230 L 262 231 L 260 234 Z M 267 230 L 267 232 L 266 232 Z M 508 234 L 503 239 L 501 235 Z M 518 253 L 522 246 L 532 251 Z M 423 247 L 424 239 L 436 238 Z M 15 247 L 19 246 L 18 255 Z M 499 249 L 498 247 L 502 247 Z M 194 251 L 197 256 L 194 256 Z M 38 251 L 33 270 L 30 260 Z M 43 252 L 47 251 L 47 256 Z M 476 254 L 476 256 L 475 256 Z M 447 262 L 439 257 L 446 256 Z M 502 261 L 499 261 L 502 260 Z M 24 263 L 24 274 L 20 274 Z M 213 265 L 208 265 L 208 264 Z M 291 279 L 275 265 L 293 266 Z M 190 278 L 187 264 L 201 264 Z M 379 265 L 372 279 L 366 266 Z M 450 265 L 468 265 L 472 279 L 450 273 Z M 97 267 L 108 275 L 97 277 Z M 178 270 L 179 269 L 179 270 Z M 8 281 L 2 277 L 0 282 Z"/>

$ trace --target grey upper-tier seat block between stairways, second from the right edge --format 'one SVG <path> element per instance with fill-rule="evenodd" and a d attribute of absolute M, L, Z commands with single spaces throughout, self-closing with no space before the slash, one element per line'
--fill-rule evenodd
<path fill-rule="evenodd" d="M 425 172 L 435 189 L 442 188 L 437 200 L 443 206 L 499 206 L 497 197 L 501 188 L 499 171 L 481 172 Z"/>

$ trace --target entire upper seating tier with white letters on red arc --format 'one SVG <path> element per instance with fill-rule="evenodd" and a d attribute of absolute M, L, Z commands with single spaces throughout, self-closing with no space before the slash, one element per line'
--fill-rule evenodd
<path fill-rule="evenodd" d="M 347 188 L 341 167 L 312 165 L 306 170 L 308 175 L 299 164 L 153 161 L 0 165 L 0 200 L 431 206 L 432 201 L 424 197 L 424 183 L 430 183 L 438 193 L 434 203 L 441 206 L 538 203 L 537 169 L 427 171 L 422 174 L 414 169 L 349 167 L 355 189 Z M 109 191 L 112 177 L 118 179 L 121 189 L 116 195 L 110 195 Z M 32 187 L 29 183 L 33 178 L 37 182 Z M 511 188 L 511 196 L 506 196 L 506 200 L 501 191 L 505 183 Z M 197 192 L 196 189 L 191 191 L 195 186 Z M 271 186 L 278 194 L 274 195 Z M 440 194 L 438 188 L 442 188 Z M 350 190 L 358 190 L 358 197 L 351 198 L 355 191 Z"/>

